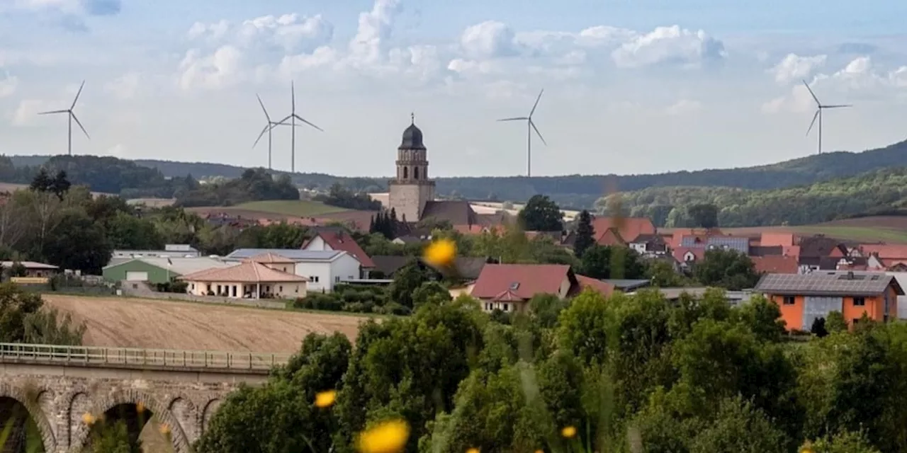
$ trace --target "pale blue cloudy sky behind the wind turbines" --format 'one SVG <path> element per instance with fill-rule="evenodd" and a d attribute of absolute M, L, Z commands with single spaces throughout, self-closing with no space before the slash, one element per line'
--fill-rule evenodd
<path fill-rule="evenodd" d="M 394 173 L 414 113 L 432 176 L 638 174 L 907 138 L 907 2 L 0 0 L 0 153 Z M 899 26 L 901 25 L 901 26 Z M 272 135 L 290 169 L 290 129 Z"/>

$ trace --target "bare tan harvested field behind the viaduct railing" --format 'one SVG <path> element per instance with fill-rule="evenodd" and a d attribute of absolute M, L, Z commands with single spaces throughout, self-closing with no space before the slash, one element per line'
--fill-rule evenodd
<path fill-rule="evenodd" d="M 356 339 L 365 316 L 116 297 L 44 294 L 47 306 L 85 323 L 88 346 L 297 352 L 308 333 Z"/>

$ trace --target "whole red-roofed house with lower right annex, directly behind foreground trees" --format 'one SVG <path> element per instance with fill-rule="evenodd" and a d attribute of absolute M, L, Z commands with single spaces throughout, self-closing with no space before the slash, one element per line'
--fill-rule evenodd
<path fill-rule="evenodd" d="M 586 287 L 605 295 L 614 291 L 610 284 L 574 274 L 570 265 L 485 265 L 471 295 L 479 299 L 485 312 L 525 312 L 535 294 L 563 299 Z"/>

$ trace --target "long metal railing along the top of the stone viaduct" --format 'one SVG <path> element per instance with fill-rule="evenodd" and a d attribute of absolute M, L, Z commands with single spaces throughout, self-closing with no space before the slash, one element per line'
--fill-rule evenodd
<path fill-rule="evenodd" d="M 0 361 L 60 362 L 61 364 L 268 370 L 289 361 L 290 354 L 262 352 L 180 351 L 54 344 L 0 343 Z"/>

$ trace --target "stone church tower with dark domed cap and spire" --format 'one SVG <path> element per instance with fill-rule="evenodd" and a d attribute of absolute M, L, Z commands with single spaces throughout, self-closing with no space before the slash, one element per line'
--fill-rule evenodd
<path fill-rule="evenodd" d="M 396 211 L 397 220 L 418 222 L 425 204 L 434 200 L 434 181 L 428 178 L 428 157 L 422 141 L 422 130 L 415 127 L 415 117 L 403 131 L 403 141 L 397 148 L 396 178 L 388 182 L 390 194 L 387 208 Z"/>

